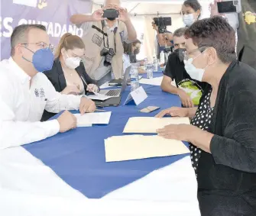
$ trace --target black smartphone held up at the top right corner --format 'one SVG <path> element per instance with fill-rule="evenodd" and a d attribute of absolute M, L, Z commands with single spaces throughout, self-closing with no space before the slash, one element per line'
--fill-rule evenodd
<path fill-rule="evenodd" d="M 218 2 L 218 11 L 220 14 L 240 13 L 241 0 Z"/>

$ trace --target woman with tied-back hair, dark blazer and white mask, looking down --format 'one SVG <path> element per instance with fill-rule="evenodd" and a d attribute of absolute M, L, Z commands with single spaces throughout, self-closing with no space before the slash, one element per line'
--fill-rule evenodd
<path fill-rule="evenodd" d="M 96 81 L 86 73 L 82 62 L 84 53 L 85 44 L 80 37 L 70 33 L 61 37 L 55 52 L 53 67 L 44 72 L 57 92 L 66 95 L 99 92 Z M 53 115 L 53 113 L 44 111 L 41 121 L 47 121 Z"/>

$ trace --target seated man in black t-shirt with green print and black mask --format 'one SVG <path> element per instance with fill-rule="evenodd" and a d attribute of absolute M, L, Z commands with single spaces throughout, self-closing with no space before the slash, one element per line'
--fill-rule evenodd
<path fill-rule="evenodd" d="M 186 73 L 183 63 L 183 51 L 185 47 L 184 32 L 186 27 L 177 29 L 173 34 L 174 52 L 168 57 L 161 89 L 179 95 L 183 107 L 192 108 L 199 105 L 199 100 L 203 95 L 204 83 L 191 79 Z M 175 79 L 176 86 L 171 85 Z"/>

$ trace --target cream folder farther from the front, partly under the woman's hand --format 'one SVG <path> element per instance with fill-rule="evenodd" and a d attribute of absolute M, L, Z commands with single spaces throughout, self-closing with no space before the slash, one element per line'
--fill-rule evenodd
<path fill-rule="evenodd" d="M 190 124 L 189 118 L 133 117 L 129 118 L 123 133 L 156 133 L 157 129 L 168 124 Z"/>

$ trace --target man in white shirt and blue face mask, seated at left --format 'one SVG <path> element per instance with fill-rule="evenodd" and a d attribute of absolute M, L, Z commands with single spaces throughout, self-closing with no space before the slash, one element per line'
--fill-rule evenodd
<path fill-rule="evenodd" d="M 43 25 L 24 24 L 11 34 L 11 57 L 0 62 L 0 149 L 43 140 L 76 127 L 76 118 L 64 111 L 57 120 L 40 122 L 44 108 L 58 113 L 96 110 L 86 97 L 61 95 L 44 70 L 53 65 L 50 39 Z"/>

